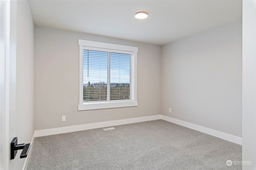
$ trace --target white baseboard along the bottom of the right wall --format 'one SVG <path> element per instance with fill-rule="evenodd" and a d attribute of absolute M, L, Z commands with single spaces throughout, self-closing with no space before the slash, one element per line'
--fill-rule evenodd
<path fill-rule="evenodd" d="M 182 121 L 182 120 L 179 120 L 179 119 L 174 119 L 172 117 L 168 117 L 168 116 L 165 116 L 165 115 L 161 115 L 161 119 L 163 119 L 165 121 L 169 121 L 171 123 L 175 123 L 177 125 L 188 127 L 190 129 L 193 129 L 193 130 L 196 130 L 196 131 L 200 131 L 202 133 L 206 133 L 208 135 L 218 137 L 220 139 L 224 139 L 226 141 L 230 141 L 230 142 L 242 145 L 242 137 L 237 137 L 237 136 L 234 136 L 234 135 L 230 135 L 228 133 L 216 131 L 216 130 L 213 130 L 213 129 L 210 129 L 210 128 L 207 128 L 207 127 L 195 125 L 193 123 L 188 123 L 186 121 Z"/>

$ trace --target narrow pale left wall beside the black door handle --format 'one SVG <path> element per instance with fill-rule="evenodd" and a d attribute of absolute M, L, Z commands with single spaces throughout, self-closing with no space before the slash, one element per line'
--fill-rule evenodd
<path fill-rule="evenodd" d="M 16 3 L 16 116 L 12 119 L 18 144 L 30 143 L 34 134 L 35 45 L 34 21 L 28 1 Z M 15 102 L 14 102 L 15 104 Z M 25 158 L 18 150 L 10 170 L 23 168 Z"/>

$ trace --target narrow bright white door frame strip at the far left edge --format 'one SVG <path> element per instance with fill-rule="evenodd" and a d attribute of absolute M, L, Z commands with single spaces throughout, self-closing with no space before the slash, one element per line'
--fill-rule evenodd
<path fill-rule="evenodd" d="M 9 169 L 10 1 L 0 1 L 0 169 Z"/>

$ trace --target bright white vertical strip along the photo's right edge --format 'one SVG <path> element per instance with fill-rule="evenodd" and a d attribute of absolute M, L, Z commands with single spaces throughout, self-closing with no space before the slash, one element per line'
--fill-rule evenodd
<path fill-rule="evenodd" d="M 243 0 L 242 160 L 256 169 L 256 1 Z"/>

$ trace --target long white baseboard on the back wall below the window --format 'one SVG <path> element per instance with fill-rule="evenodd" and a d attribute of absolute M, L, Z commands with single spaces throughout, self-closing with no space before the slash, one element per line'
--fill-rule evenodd
<path fill-rule="evenodd" d="M 158 120 L 158 119 L 161 119 L 161 115 L 136 117 L 136 118 L 131 118 L 131 119 L 105 121 L 105 122 L 99 122 L 99 123 L 90 123 L 90 124 L 68 126 L 68 127 L 59 127 L 59 128 L 54 128 L 54 129 L 44 129 L 44 130 L 38 130 L 35 132 L 36 132 L 36 137 L 40 137 L 40 136 L 47 136 L 47 135 L 56 135 L 56 134 L 60 134 L 60 133 L 68 133 L 68 132 L 83 131 L 83 130 L 88 130 L 88 129 L 96 129 L 96 128 L 102 128 L 102 127 L 124 125 L 124 124 L 129 124 L 129 123 L 137 123 L 137 122 L 142 122 L 142 121 Z"/>

